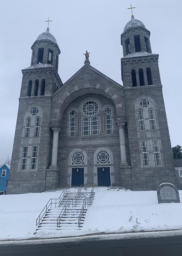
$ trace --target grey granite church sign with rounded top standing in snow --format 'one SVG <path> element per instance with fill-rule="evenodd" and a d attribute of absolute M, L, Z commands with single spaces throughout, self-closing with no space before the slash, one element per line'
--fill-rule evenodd
<path fill-rule="evenodd" d="M 158 203 L 180 203 L 179 192 L 171 183 L 162 183 L 157 189 Z"/>

